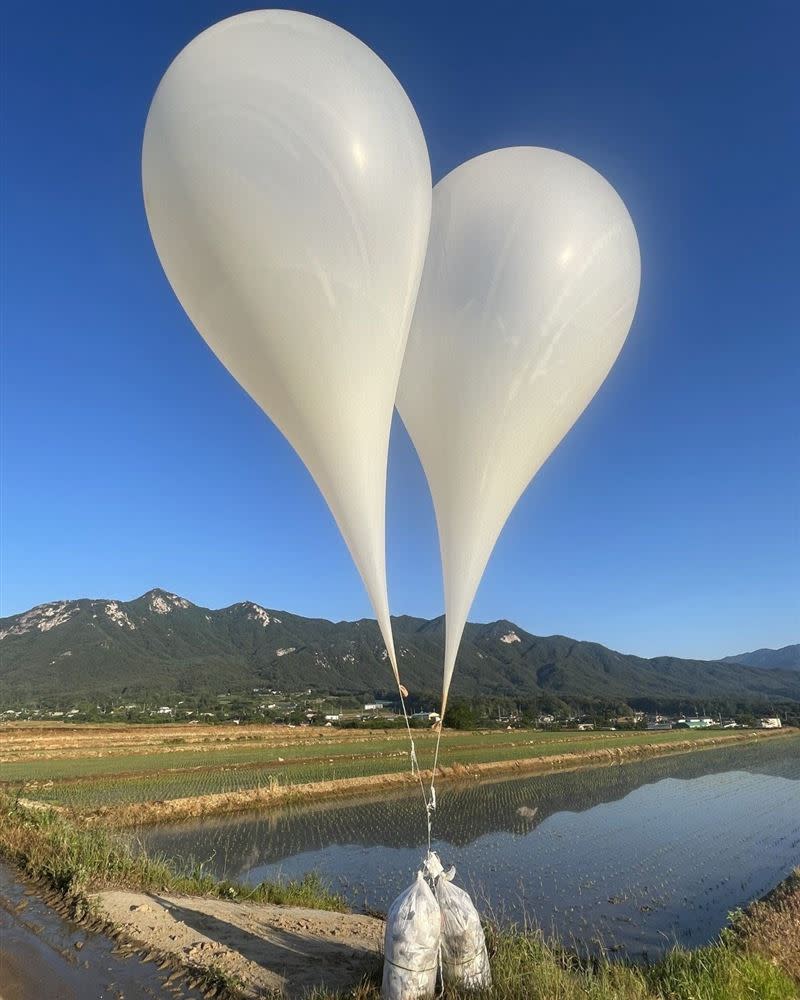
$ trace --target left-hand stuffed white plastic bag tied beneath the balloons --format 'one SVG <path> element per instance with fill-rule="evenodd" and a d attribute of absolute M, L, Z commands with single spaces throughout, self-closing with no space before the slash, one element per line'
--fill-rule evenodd
<path fill-rule="evenodd" d="M 383 1000 L 432 997 L 442 917 L 422 872 L 389 908 L 384 937 Z"/>

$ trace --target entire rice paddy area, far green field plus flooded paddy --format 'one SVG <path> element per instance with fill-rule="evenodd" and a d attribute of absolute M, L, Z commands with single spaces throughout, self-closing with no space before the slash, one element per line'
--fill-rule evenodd
<path fill-rule="evenodd" d="M 429 767 L 435 735 L 415 739 Z M 446 731 L 441 762 L 445 865 L 495 925 L 572 951 L 639 961 L 702 946 L 800 862 L 797 731 Z M 368 912 L 386 910 L 427 846 L 419 789 L 389 783 L 409 767 L 397 731 L 0 727 L 5 801 L 56 806 L 87 834 L 122 826 L 115 842 L 180 877 L 261 887 L 313 873 Z M 326 797 L 340 779 L 365 780 L 356 797 L 349 785 Z M 233 793 L 240 811 L 215 815 L 214 797 Z M 153 813 L 173 800 L 197 809 Z"/>

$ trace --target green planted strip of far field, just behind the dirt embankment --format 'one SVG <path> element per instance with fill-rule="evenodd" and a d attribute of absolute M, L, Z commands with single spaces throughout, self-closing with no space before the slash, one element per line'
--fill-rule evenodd
<path fill-rule="evenodd" d="M 184 730 L 186 731 L 186 730 Z M 191 730 L 189 730 L 191 734 Z M 300 735 L 298 735 L 298 733 Z M 339 778 L 374 777 L 408 770 L 408 744 L 404 735 L 384 732 L 359 737 L 336 731 L 295 730 L 282 741 L 274 733 L 254 739 L 217 737 L 186 747 L 166 732 L 148 736 L 147 749 L 131 752 L 120 746 L 108 752 L 108 734 L 97 730 L 96 741 L 81 734 L 80 747 L 64 751 L 69 756 L 41 757 L 32 737 L 24 749 L 4 747 L 0 734 L 2 765 L 0 789 L 62 805 L 76 812 L 106 806 L 191 798 L 249 791 L 274 786 L 295 786 Z M 239 736 L 236 733 L 235 736 Z M 702 742 L 724 737 L 718 731 L 688 732 L 514 732 L 443 734 L 441 760 L 446 766 L 545 759 L 555 754 L 587 753 L 651 744 L 668 746 L 687 739 Z M 19 731 L 7 738 L 19 739 Z M 741 738 L 741 735 L 739 736 Z M 47 736 L 41 737 L 46 741 Z M 156 742 L 152 742 L 153 740 Z M 433 735 L 415 734 L 421 766 L 430 762 Z M 45 744 L 46 745 L 46 744 Z M 174 749 L 175 746 L 180 749 Z"/>

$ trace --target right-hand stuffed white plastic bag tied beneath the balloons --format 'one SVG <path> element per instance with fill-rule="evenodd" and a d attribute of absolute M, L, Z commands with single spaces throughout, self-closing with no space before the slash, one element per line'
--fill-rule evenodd
<path fill-rule="evenodd" d="M 442 976 L 445 983 L 467 989 L 492 985 L 486 936 L 469 893 L 453 885 L 455 868 L 436 879 L 436 899 L 442 912 Z"/>

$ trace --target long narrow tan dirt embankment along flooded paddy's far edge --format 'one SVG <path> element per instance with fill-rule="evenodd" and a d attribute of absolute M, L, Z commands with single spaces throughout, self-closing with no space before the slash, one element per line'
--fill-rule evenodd
<path fill-rule="evenodd" d="M 622 764 L 646 757 L 673 753 L 689 753 L 737 743 L 752 743 L 760 739 L 776 739 L 781 735 L 795 734 L 785 729 L 775 733 L 720 733 L 718 737 L 686 739 L 676 743 L 641 743 L 627 747 L 606 747 L 598 750 L 551 754 L 523 760 L 490 761 L 483 764 L 454 764 L 442 767 L 437 781 L 465 781 L 502 777 L 512 774 L 541 774 L 554 770 L 575 770 L 584 767 L 602 767 Z M 422 772 L 422 779 L 429 782 L 430 771 Z M 299 785 L 278 785 L 272 788 L 255 788 L 243 792 L 221 792 L 189 798 L 139 802 L 132 805 L 103 806 L 91 812 L 82 812 L 79 818 L 87 824 L 101 826 L 137 826 L 140 824 L 170 822 L 199 816 L 244 812 L 285 802 L 374 794 L 384 789 L 411 787 L 418 783 L 416 775 L 408 771 L 369 777 L 338 778 L 331 781 L 312 781 Z"/>

